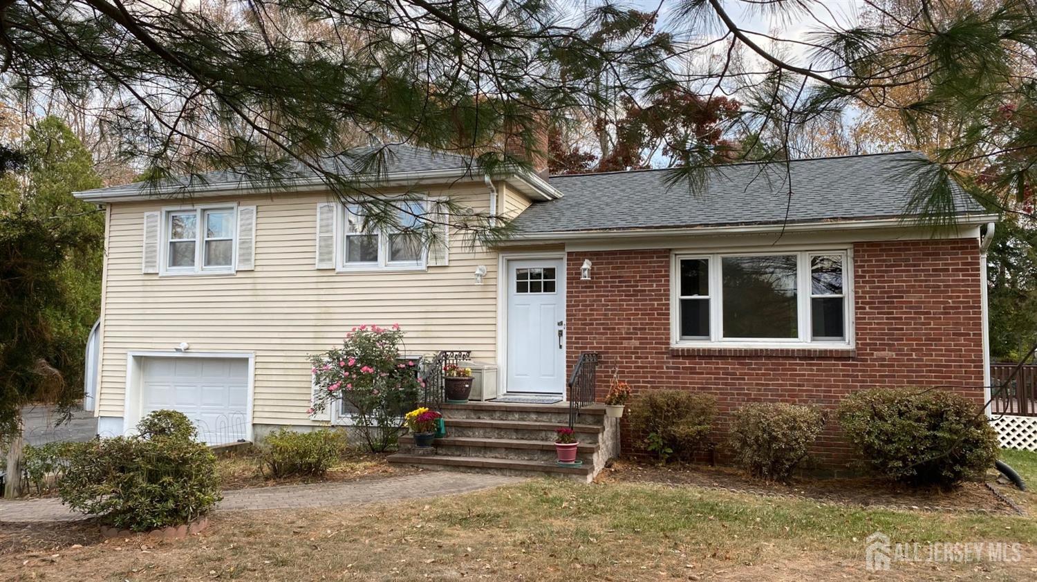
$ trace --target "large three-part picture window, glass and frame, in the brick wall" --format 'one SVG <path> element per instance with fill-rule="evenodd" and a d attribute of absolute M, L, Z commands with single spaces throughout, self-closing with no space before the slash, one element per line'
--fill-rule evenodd
<path fill-rule="evenodd" d="M 845 250 L 675 255 L 674 340 L 849 347 L 848 261 Z"/>

